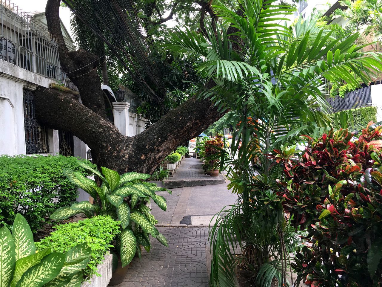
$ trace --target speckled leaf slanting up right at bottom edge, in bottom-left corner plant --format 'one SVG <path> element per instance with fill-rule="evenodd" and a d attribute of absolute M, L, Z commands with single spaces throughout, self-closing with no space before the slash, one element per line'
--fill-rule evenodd
<path fill-rule="evenodd" d="M 50 253 L 41 259 L 39 264 L 24 272 L 16 287 L 41 287 L 55 278 L 65 262 L 65 254 Z"/>

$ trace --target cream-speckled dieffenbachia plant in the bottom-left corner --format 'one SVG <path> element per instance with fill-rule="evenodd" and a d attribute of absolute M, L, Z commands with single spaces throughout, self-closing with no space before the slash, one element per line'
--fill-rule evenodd
<path fill-rule="evenodd" d="M 66 253 L 50 248 L 36 253 L 31 228 L 17 214 L 12 233 L 8 227 L 0 229 L 0 287 L 79 287 L 90 255 L 87 243 Z"/>

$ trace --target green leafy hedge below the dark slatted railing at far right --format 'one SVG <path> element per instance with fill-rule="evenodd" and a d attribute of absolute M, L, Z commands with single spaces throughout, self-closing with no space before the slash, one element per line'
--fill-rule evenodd
<path fill-rule="evenodd" d="M 377 121 L 377 107 L 363 107 L 350 109 L 351 116 L 353 117 L 354 127 L 352 129 L 356 131 L 361 131 L 364 127 L 367 126 L 369 122 Z M 328 115 L 329 119 L 335 123 L 336 126 L 340 126 L 338 123 L 340 122 L 340 113 L 333 113 Z"/>

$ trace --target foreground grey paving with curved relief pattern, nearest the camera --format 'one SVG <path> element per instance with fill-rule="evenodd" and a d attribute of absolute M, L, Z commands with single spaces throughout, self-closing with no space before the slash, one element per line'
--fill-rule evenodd
<path fill-rule="evenodd" d="M 169 247 L 154 238 L 149 253 L 135 258 L 117 287 L 208 287 L 208 228 L 158 228 Z"/>

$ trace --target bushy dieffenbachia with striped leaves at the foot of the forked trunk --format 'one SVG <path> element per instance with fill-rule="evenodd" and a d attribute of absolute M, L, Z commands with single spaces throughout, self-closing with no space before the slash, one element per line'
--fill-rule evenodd
<path fill-rule="evenodd" d="M 118 235 L 117 243 L 120 246 L 118 249 L 122 266 L 129 264 L 136 253 L 141 256 L 141 246 L 147 252 L 150 250 L 149 235 L 168 246 L 166 238 L 154 227 L 157 220 L 146 205 L 152 198 L 162 210 L 166 210 L 166 199 L 155 194 L 155 191 L 165 189 L 142 183 L 142 180 L 150 177 L 149 174 L 129 172 L 120 175 L 117 171 L 105 167 L 101 167 L 101 173 L 83 161 L 78 161 L 78 164 L 97 175 L 102 180 L 101 186 L 79 172 L 64 169 L 63 173 L 73 184 L 93 197 L 95 203 L 81 201 L 61 207 L 50 216 L 51 219 L 67 219 L 83 213 L 88 218 L 107 214 L 118 220 L 121 224 L 121 233 Z"/>

